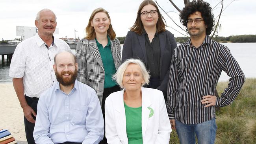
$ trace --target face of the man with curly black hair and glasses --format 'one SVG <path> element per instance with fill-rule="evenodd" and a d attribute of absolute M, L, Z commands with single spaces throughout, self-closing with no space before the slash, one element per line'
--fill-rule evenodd
<path fill-rule="evenodd" d="M 187 20 L 202 20 L 199 24 L 196 24 L 194 21 L 192 24 L 187 24 L 187 31 L 191 37 L 205 37 L 207 26 L 204 24 L 204 20 L 200 12 L 196 11 L 191 14 Z"/>

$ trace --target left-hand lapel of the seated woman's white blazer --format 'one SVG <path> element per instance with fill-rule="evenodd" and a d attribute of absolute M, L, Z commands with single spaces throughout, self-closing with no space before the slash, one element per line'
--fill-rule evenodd
<path fill-rule="evenodd" d="M 122 139 L 128 144 L 128 138 L 126 133 L 126 116 L 124 109 L 124 89 L 122 90 L 121 96 L 117 97 L 114 109 L 115 113 L 117 114 L 117 122 L 119 123 L 119 127 L 117 127 L 117 129 L 122 132 Z"/>

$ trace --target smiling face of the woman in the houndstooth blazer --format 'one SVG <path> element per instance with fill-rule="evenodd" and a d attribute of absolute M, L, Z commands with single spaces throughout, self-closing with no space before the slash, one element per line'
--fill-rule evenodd
<path fill-rule="evenodd" d="M 91 26 L 94 28 L 97 34 L 107 34 L 109 25 L 111 24 L 110 19 L 104 12 L 98 12 L 91 20 Z"/>

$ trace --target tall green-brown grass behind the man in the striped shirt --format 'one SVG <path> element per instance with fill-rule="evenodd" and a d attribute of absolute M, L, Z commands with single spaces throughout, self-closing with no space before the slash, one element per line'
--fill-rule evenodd
<path fill-rule="evenodd" d="M 219 95 L 228 82 L 219 82 Z M 256 78 L 249 78 L 231 105 L 216 112 L 217 133 L 215 144 L 256 144 Z M 170 144 L 178 144 L 173 130 Z"/>

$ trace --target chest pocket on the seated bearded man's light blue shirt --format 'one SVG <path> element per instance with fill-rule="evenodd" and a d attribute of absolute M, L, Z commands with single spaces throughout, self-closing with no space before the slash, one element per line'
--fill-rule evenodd
<path fill-rule="evenodd" d="M 74 106 L 74 116 L 71 120 L 73 125 L 85 125 L 86 115 L 87 115 L 87 106 L 85 105 L 75 105 Z"/>

